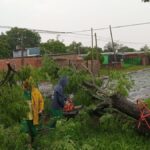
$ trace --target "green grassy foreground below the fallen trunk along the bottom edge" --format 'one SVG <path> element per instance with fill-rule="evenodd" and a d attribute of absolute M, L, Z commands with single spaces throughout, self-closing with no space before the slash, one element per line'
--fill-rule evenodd
<path fill-rule="evenodd" d="M 150 137 L 140 135 L 135 124 L 110 114 L 99 122 L 78 116 L 59 121 L 56 129 L 39 135 L 34 144 L 39 150 L 149 150 Z"/>

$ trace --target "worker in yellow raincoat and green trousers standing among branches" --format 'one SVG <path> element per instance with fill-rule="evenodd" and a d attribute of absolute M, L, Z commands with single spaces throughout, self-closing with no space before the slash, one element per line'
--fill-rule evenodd
<path fill-rule="evenodd" d="M 44 100 L 38 88 L 35 87 L 34 81 L 31 77 L 24 81 L 23 87 L 24 100 L 27 101 L 29 105 L 27 118 L 24 120 L 23 131 L 27 132 L 33 141 L 36 135 L 35 127 L 39 125 L 39 115 L 44 110 Z"/>

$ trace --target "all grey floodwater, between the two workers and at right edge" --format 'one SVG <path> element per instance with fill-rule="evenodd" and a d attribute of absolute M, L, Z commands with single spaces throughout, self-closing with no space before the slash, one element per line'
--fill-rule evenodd
<path fill-rule="evenodd" d="M 130 73 L 134 85 L 129 92 L 128 99 L 136 101 L 138 98 L 150 98 L 150 68 Z M 45 97 L 51 97 L 53 86 L 49 82 L 39 84 L 39 88 Z"/>

